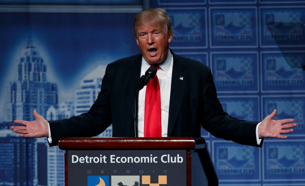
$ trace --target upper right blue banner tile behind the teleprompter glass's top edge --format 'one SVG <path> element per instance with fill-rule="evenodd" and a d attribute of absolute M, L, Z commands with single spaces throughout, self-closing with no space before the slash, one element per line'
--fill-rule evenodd
<path fill-rule="evenodd" d="M 261 47 L 277 47 L 273 37 L 271 36 L 270 31 L 268 30 L 266 23 L 270 22 L 299 22 L 305 23 L 305 7 L 297 6 L 297 7 L 260 7 L 260 35 L 261 35 Z M 299 42 L 297 39 L 298 35 L 303 35 L 302 30 L 297 26 L 281 26 L 277 29 L 278 37 L 283 38 L 281 42 L 285 42 L 285 40 L 292 40 L 293 38 L 295 42 L 294 45 L 297 47 L 305 46 L 305 43 Z M 301 36 L 305 37 L 305 36 Z"/>

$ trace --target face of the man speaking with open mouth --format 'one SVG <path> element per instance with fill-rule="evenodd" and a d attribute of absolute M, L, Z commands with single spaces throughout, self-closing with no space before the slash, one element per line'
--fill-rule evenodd
<path fill-rule="evenodd" d="M 138 26 L 135 39 L 144 59 L 150 65 L 156 65 L 165 61 L 172 38 L 164 26 L 144 23 Z"/>

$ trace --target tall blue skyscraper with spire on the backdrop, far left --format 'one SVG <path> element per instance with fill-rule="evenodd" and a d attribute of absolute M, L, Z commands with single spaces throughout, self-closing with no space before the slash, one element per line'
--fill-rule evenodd
<path fill-rule="evenodd" d="M 47 82 L 46 73 L 47 66 L 29 36 L 18 64 L 18 80 L 10 83 L 7 105 L 10 121 L 32 121 L 34 109 L 45 117 L 48 108 L 58 103 L 57 85 Z"/>

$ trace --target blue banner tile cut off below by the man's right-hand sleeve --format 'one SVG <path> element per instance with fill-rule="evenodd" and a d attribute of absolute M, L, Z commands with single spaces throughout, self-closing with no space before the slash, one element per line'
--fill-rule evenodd
<path fill-rule="evenodd" d="M 234 118 L 248 121 L 260 121 L 259 97 L 219 96 L 225 112 Z"/>

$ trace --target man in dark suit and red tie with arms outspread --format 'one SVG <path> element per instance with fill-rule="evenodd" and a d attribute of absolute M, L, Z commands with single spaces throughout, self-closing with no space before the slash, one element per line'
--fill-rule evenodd
<path fill-rule="evenodd" d="M 145 137 L 145 89 L 139 92 L 138 131 L 134 127 L 133 97 L 139 78 L 150 65 L 158 65 L 161 94 L 161 134 L 200 137 L 203 126 L 212 135 L 234 142 L 261 146 L 261 139 L 287 138 L 296 124 L 293 119 L 272 120 L 273 111 L 262 122 L 243 121 L 225 113 L 217 99 L 210 68 L 174 54 L 170 19 L 163 9 L 140 12 L 134 20 L 134 35 L 141 54 L 110 63 L 99 96 L 90 111 L 69 119 L 46 121 L 33 111 L 36 121 L 12 126 L 22 137 L 48 137 L 50 146 L 61 137 L 91 137 L 113 125 L 113 137 Z M 159 68 L 158 67 L 158 68 Z M 285 125 L 283 125 L 285 124 Z M 286 129 L 286 130 L 285 130 Z"/>

